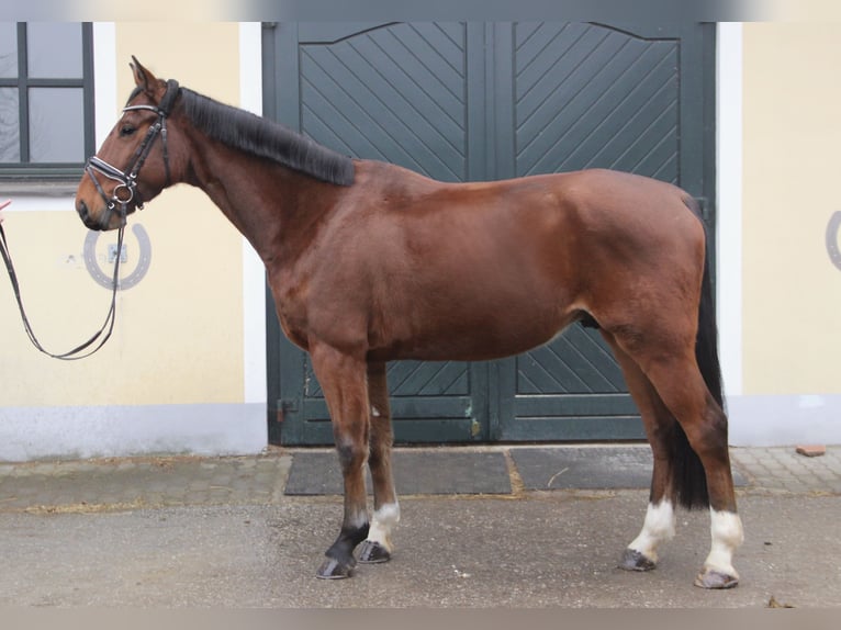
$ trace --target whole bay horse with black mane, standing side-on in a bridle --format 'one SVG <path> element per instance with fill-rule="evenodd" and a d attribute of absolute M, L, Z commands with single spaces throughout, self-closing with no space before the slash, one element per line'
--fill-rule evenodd
<path fill-rule="evenodd" d="M 738 584 L 743 533 L 692 196 L 609 170 L 442 183 L 338 155 L 132 59 L 136 87 L 86 165 L 76 210 L 91 229 L 121 228 L 187 183 L 262 259 L 283 333 L 312 358 L 344 477 L 341 527 L 318 577 L 351 575 L 357 547 L 363 563 L 393 552 L 388 361 L 498 359 L 579 322 L 616 355 L 653 452 L 648 510 L 620 566 L 653 569 L 675 507 L 703 507 L 711 548 L 695 584 Z"/>

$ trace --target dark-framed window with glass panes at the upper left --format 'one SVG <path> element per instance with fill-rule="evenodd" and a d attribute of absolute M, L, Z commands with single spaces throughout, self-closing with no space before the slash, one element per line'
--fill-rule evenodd
<path fill-rule="evenodd" d="M 0 181 L 78 178 L 93 137 L 90 24 L 0 22 Z"/>

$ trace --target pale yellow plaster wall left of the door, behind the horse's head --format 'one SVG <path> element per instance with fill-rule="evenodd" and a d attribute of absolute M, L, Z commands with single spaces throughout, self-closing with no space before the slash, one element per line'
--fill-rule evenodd
<path fill-rule="evenodd" d="M 133 87 L 131 55 L 161 78 L 237 104 L 238 24 L 116 24 L 115 43 L 119 105 Z M 109 124 L 117 115 L 98 112 Z M 48 349 L 65 351 L 99 327 L 109 304 L 82 262 L 88 230 L 69 196 L 20 199 L 13 207 L 4 227 L 32 324 Z M 97 356 L 64 363 L 37 353 L 11 291 L 0 292 L 0 407 L 243 402 L 242 237 L 203 193 L 176 187 L 130 220 L 124 275 L 137 262 L 134 225 L 150 239 L 152 265 L 119 294 L 113 337 Z M 100 258 L 115 240 L 115 233 L 100 236 Z M 101 267 L 110 272 L 104 260 Z"/>

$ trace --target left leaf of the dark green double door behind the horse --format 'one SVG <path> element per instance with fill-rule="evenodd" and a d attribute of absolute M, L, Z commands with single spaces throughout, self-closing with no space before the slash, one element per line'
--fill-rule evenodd
<path fill-rule="evenodd" d="M 431 178 L 463 181 L 468 172 L 466 24 L 381 24 L 336 32 L 321 24 L 282 24 L 298 49 L 299 108 L 281 122 L 354 157 L 404 166 Z M 289 49 L 290 46 L 284 46 Z M 294 76 L 288 80 L 294 79 Z M 327 406 L 310 358 L 285 339 L 280 351 L 303 363 L 303 387 L 290 362 L 281 373 L 284 443 L 332 441 Z M 282 371 L 281 371 L 282 372 Z M 397 441 L 486 439 L 474 418 L 485 397 L 486 365 L 396 361 L 389 365 Z M 294 410 L 292 410 L 294 408 Z"/>

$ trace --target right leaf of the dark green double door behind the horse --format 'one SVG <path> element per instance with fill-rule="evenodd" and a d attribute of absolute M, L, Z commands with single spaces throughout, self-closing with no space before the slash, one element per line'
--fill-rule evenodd
<path fill-rule="evenodd" d="M 505 175 L 612 168 L 703 194 L 704 33 L 518 23 L 501 29 Z M 511 42 L 508 44 L 508 42 Z M 502 127 L 502 125 L 501 125 Z M 581 261 L 586 265 L 586 260 Z M 573 326 L 502 369 L 501 439 L 633 439 L 642 428 L 597 330 Z"/>

